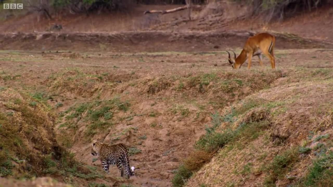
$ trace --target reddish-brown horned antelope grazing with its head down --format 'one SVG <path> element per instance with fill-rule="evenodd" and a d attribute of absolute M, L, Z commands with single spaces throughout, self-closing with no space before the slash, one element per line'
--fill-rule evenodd
<path fill-rule="evenodd" d="M 226 51 L 229 55 L 228 61 L 233 69 L 239 69 L 242 64 L 247 59 L 248 65 L 247 69 L 250 69 L 251 66 L 251 58 L 253 56 L 258 56 L 260 66 L 263 67 L 261 53 L 263 53 L 270 61 L 272 69 L 275 68 L 275 60 L 274 60 L 274 44 L 275 44 L 275 37 L 268 33 L 259 33 L 254 36 L 249 37 L 245 45 L 243 47 L 242 52 L 236 57 L 235 52 L 234 58 L 230 57 L 230 53 Z"/>

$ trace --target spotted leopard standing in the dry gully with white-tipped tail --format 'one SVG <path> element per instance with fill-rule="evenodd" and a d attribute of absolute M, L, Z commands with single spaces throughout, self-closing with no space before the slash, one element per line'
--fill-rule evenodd
<path fill-rule="evenodd" d="M 126 176 L 130 178 L 134 176 L 135 167 L 130 168 L 129 149 L 123 143 L 108 145 L 105 143 L 98 143 L 93 141 L 91 154 L 93 156 L 99 156 L 102 167 L 106 173 L 109 173 L 109 166 L 117 165 L 120 170 L 120 176 L 124 177 L 124 168 L 126 170 Z"/>

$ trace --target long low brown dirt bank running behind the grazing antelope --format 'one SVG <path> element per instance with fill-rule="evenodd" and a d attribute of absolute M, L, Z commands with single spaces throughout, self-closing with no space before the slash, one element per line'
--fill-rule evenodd
<path fill-rule="evenodd" d="M 3 50 L 74 50 L 109 52 L 201 52 L 241 48 L 253 32 L 121 33 L 6 33 L 0 34 Z M 304 39 L 288 33 L 273 33 L 277 49 L 332 47 L 329 42 Z"/>

